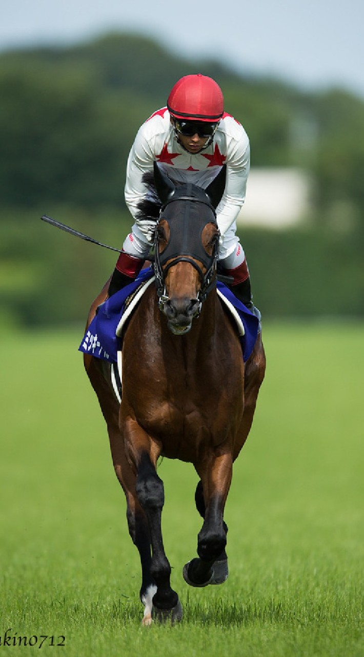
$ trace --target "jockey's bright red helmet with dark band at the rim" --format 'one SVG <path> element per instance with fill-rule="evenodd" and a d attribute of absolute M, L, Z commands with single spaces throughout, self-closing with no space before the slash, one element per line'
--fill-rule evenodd
<path fill-rule="evenodd" d="M 224 113 L 224 96 L 218 84 L 198 73 L 176 82 L 167 101 L 173 118 L 218 122 Z"/>

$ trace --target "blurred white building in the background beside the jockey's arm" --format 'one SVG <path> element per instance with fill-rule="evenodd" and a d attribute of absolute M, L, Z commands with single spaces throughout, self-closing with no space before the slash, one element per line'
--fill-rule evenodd
<path fill-rule="evenodd" d="M 312 209 L 312 181 L 299 169 L 253 169 L 238 225 L 284 228 L 304 221 Z"/>

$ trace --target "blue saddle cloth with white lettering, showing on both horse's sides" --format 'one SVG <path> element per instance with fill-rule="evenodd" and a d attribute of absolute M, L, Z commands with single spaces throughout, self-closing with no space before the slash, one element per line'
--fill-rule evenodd
<path fill-rule="evenodd" d="M 148 281 L 152 276 L 152 267 L 142 269 L 135 281 L 119 290 L 119 292 L 115 292 L 115 294 L 99 307 L 96 317 L 92 319 L 83 337 L 79 351 L 92 353 L 96 358 L 110 361 L 110 363 L 117 362 L 117 351 L 121 348 L 121 342 L 120 338 L 117 338 L 116 329 L 123 315 L 125 302 L 141 283 Z M 258 318 L 235 297 L 224 283 L 218 281 L 217 287 L 233 304 L 241 317 L 245 328 L 245 335 L 240 338 L 241 349 L 243 351 L 243 359 L 247 361 L 253 351 L 256 336 L 258 335 Z"/>

